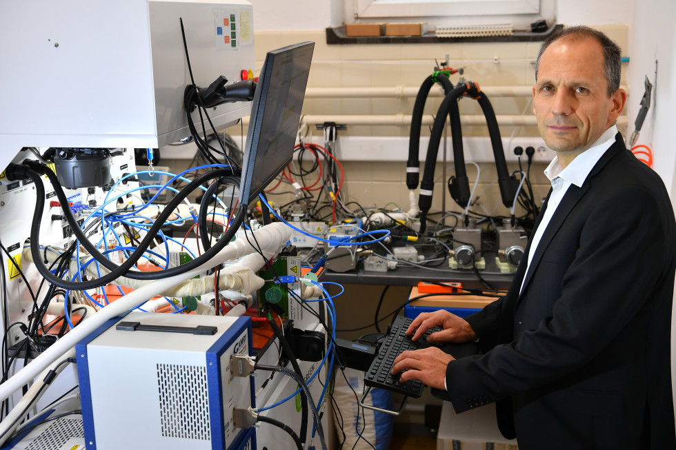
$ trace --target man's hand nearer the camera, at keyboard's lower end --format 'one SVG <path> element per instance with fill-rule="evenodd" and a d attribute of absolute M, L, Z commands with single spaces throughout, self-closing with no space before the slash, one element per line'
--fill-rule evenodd
<path fill-rule="evenodd" d="M 406 350 L 395 359 L 392 374 L 406 370 L 401 374 L 400 382 L 420 380 L 428 386 L 445 390 L 446 366 L 454 359 L 453 356 L 444 353 L 437 347 Z"/>

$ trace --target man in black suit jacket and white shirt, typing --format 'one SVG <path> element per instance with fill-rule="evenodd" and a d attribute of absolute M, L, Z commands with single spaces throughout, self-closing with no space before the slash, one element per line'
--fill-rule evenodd
<path fill-rule="evenodd" d="M 552 190 L 508 294 L 466 320 L 421 314 L 413 339 L 477 340 L 454 360 L 406 351 L 392 372 L 448 390 L 457 412 L 497 402 L 521 450 L 672 449 L 670 320 L 676 228 L 659 176 L 626 150 L 615 120 L 620 52 L 568 28 L 544 42 L 533 112 L 557 156 Z"/>

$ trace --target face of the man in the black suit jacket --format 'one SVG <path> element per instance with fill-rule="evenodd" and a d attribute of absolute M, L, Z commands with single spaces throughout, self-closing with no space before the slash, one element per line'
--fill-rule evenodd
<path fill-rule="evenodd" d="M 540 58 L 533 113 L 542 138 L 559 157 L 587 150 L 624 108 L 622 90 L 608 98 L 603 50 L 595 39 L 564 37 Z"/>

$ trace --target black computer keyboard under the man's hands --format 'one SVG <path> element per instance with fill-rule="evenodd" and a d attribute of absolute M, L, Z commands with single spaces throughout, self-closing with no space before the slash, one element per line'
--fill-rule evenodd
<path fill-rule="evenodd" d="M 403 393 L 413 398 L 419 398 L 422 395 L 425 385 L 419 380 L 399 382 L 399 374 L 391 374 L 392 365 L 394 365 L 395 358 L 403 351 L 429 347 L 430 344 L 426 340 L 427 336 L 436 331 L 441 331 L 441 327 L 428 329 L 424 336 L 413 342 L 410 339 L 411 336 L 406 336 L 406 330 L 412 321 L 413 319 L 404 316 L 397 316 L 395 318 L 395 322 L 392 323 L 385 341 L 380 346 L 378 356 L 375 357 L 368 371 L 366 371 L 366 375 L 364 376 L 364 384 L 366 386 L 388 389 L 389 391 Z"/>

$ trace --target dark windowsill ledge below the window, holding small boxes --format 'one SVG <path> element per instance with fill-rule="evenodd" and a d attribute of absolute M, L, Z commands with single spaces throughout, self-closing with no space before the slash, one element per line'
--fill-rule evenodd
<path fill-rule="evenodd" d="M 424 36 L 346 36 L 345 25 L 326 28 L 326 43 L 459 43 L 459 42 L 538 42 L 547 39 L 550 34 L 561 30 L 564 25 L 552 25 L 546 32 L 533 33 L 515 31 L 511 36 L 477 36 L 477 37 L 436 37 L 434 32 Z"/>

